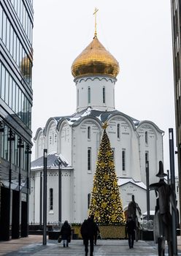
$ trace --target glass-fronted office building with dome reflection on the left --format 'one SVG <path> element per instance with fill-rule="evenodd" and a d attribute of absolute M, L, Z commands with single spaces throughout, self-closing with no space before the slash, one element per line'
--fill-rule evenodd
<path fill-rule="evenodd" d="M 0 240 L 28 236 L 32 0 L 0 1 Z"/>

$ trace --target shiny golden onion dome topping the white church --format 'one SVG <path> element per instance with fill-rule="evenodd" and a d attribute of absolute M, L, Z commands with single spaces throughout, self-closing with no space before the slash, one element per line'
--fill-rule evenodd
<path fill-rule="evenodd" d="M 96 36 L 77 56 L 71 69 L 74 78 L 84 75 L 109 75 L 116 78 L 120 71 L 118 61 L 104 48 Z"/>

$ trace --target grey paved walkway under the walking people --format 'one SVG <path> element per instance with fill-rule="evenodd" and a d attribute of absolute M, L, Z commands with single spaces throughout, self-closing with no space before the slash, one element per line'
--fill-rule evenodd
<path fill-rule="evenodd" d="M 85 255 L 82 240 L 72 240 L 68 248 L 63 248 L 62 243 L 47 240 L 47 245 L 42 245 L 42 236 L 28 236 L 11 241 L 0 242 L 0 255 L 7 256 L 83 256 Z M 157 246 L 153 241 L 138 241 L 134 249 L 128 248 L 128 240 L 98 240 L 94 246 L 94 256 L 157 256 Z M 181 239 L 178 238 L 178 255 L 181 256 Z"/>

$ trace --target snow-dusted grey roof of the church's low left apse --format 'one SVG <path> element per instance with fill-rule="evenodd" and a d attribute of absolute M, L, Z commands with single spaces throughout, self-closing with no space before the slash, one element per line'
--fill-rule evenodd
<path fill-rule="evenodd" d="M 47 167 L 58 167 L 60 162 L 61 167 L 71 167 L 69 162 L 61 155 L 56 152 L 50 152 L 47 154 Z M 31 162 L 31 170 L 42 169 L 44 167 L 43 157 L 39 157 L 38 159 Z"/>

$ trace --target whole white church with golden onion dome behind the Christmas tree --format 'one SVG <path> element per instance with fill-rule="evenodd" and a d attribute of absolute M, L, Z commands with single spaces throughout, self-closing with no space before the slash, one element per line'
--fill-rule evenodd
<path fill-rule="evenodd" d="M 88 217 L 96 159 L 108 123 L 107 135 L 114 152 L 120 197 L 126 211 L 132 195 L 147 211 L 146 162 L 150 184 L 157 182 L 163 161 L 163 131 L 152 121 L 139 121 L 115 109 L 118 61 L 96 35 L 72 64 L 77 108 L 72 116 L 56 116 L 39 128 L 31 162 L 29 222 L 42 222 L 43 149 L 47 148 L 47 222 L 67 219 L 80 223 Z M 150 210 L 155 194 L 150 191 Z"/>

